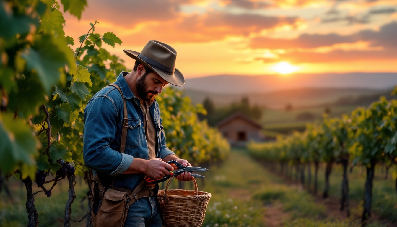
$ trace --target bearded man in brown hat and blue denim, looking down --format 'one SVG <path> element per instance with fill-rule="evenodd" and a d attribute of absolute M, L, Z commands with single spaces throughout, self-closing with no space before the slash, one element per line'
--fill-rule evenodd
<path fill-rule="evenodd" d="M 176 51 L 167 44 L 149 41 L 141 53 L 124 52 L 135 59 L 130 73 L 121 72 L 117 84 L 126 101 L 128 113 L 125 152 L 120 153 L 123 124 L 123 99 L 113 86 L 106 86 L 87 103 L 84 112 L 85 165 L 96 171 L 105 188 L 134 190 L 145 177 L 160 179 L 172 166 L 166 161 L 179 159 L 166 146 L 159 106 L 154 99 L 168 83 L 182 86 L 185 79 L 175 69 Z M 177 179 L 192 180 L 190 173 Z M 157 190 L 154 196 L 139 198 L 130 207 L 125 227 L 162 226 Z"/>

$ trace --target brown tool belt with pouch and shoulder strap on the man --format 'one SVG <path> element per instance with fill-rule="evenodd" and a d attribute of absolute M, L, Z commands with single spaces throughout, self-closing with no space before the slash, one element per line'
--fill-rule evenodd
<path fill-rule="evenodd" d="M 116 87 L 123 98 L 124 113 L 123 127 L 121 131 L 120 152 L 125 151 L 125 141 L 127 140 L 128 115 L 127 105 L 123 93 L 118 85 L 112 83 L 110 86 Z M 139 198 L 154 196 L 157 190 L 154 185 L 146 185 L 145 180 L 141 182 L 133 191 L 125 188 L 114 188 L 114 178 L 110 188 L 105 188 L 100 182 L 98 175 L 90 171 L 90 199 L 91 207 L 98 207 L 95 214 L 91 211 L 91 221 L 93 227 L 123 227 L 127 217 L 128 208 Z"/>

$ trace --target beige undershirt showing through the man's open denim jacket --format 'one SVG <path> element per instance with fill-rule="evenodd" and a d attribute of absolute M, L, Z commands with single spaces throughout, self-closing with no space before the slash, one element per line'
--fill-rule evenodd
<path fill-rule="evenodd" d="M 150 114 L 149 107 L 152 103 L 141 101 L 141 109 L 143 112 L 143 127 L 145 128 L 146 142 L 149 149 L 149 158 L 156 158 L 156 127 Z"/>

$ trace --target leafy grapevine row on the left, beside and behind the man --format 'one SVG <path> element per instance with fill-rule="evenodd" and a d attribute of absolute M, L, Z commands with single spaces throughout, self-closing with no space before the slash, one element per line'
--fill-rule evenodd
<path fill-rule="evenodd" d="M 121 40 L 112 32 L 96 33 L 98 21 L 79 37 L 79 47 L 71 48 L 75 40 L 63 30 L 67 21 L 61 5 L 64 13 L 80 18 L 87 2 L 1 0 L 0 4 L 4 25 L 0 31 L 0 173 L 25 184 L 29 226 L 39 223 L 35 195 L 52 196 L 57 182 L 65 178 L 69 200 L 64 225 L 70 226 L 75 177 L 88 171 L 82 153 L 85 105 L 114 82 L 115 75 L 126 71 L 123 60 L 104 49 L 104 45 L 121 45 Z M 229 145 L 222 135 L 197 120 L 202 107 L 173 89 L 160 100 L 162 118 L 170 122 L 165 125 L 167 140 L 178 155 L 192 163 L 209 163 L 227 155 Z M 39 188 L 36 192 L 33 182 Z"/>

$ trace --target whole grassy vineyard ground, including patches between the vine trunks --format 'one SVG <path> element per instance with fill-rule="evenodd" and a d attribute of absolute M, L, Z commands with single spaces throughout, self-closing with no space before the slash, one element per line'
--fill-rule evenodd
<path fill-rule="evenodd" d="M 358 227 L 362 212 L 360 203 L 364 188 L 364 173 L 361 168 L 355 168 L 349 175 L 352 216 L 347 218 L 345 211 L 339 211 L 337 206 L 335 208 L 340 195 L 340 171 L 336 166 L 331 174 L 331 198 L 322 200 L 319 195 L 324 186 L 323 168 L 320 168 L 318 175 L 318 196 L 313 196 L 307 186 L 282 178 L 252 160 L 245 149 L 233 149 L 227 160 L 220 165 L 210 167 L 210 171 L 205 173 L 206 178 L 197 181 L 198 190 L 212 193 L 203 226 Z M 397 196 L 393 181 L 390 178 L 384 180 L 383 177 L 384 173 L 380 169 L 375 176 L 373 217 L 370 218 L 368 226 L 387 227 L 397 224 Z M 193 188 L 191 182 L 183 184 L 186 190 Z M 7 185 L 12 189 L 13 200 L 11 201 L 2 190 L 0 226 L 26 226 L 25 188 L 19 182 L 10 181 Z M 39 226 L 63 226 L 67 185 L 64 182 L 58 186 L 60 189 L 53 190 L 50 198 L 46 198 L 42 193 L 36 198 Z M 172 182 L 170 188 L 175 187 L 177 187 L 176 181 Z M 73 203 L 72 213 L 75 220 L 80 219 L 88 211 L 86 193 L 87 187 L 82 181 L 77 180 L 77 198 Z M 332 202 L 334 206 L 329 207 Z M 83 223 L 72 223 L 71 226 L 85 226 L 85 220 Z"/>

